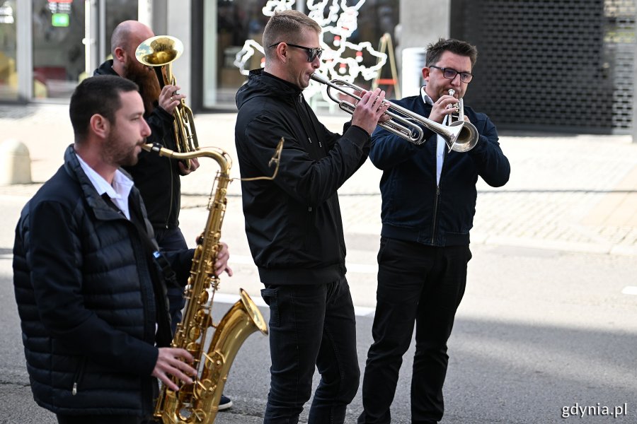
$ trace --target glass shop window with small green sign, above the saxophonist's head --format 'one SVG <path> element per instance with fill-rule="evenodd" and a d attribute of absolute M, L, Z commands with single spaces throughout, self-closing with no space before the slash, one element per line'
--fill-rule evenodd
<path fill-rule="evenodd" d="M 84 1 L 33 0 L 33 97 L 69 98 L 86 68 Z"/>

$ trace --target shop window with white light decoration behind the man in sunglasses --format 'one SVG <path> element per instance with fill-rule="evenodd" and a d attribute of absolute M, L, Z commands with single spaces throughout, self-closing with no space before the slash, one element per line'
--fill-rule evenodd
<path fill-rule="evenodd" d="M 398 25 L 398 1 L 350 0 L 339 1 L 337 6 L 334 6 L 336 2 L 323 2 L 326 7 L 322 11 L 316 11 L 316 1 L 307 3 L 302 1 L 297 5 L 294 1 L 284 0 L 205 2 L 203 106 L 234 108 L 234 95 L 246 81 L 247 71 L 263 66 L 261 36 L 269 19 L 264 13 L 266 7 L 268 13 L 283 6 L 316 13 L 313 17 L 323 26 L 322 47 L 326 49 L 321 72 L 329 78 L 351 76 L 350 81 L 363 88 L 372 86 L 377 75 L 374 69 L 381 71 L 382 78 L 389 78 L 386 76 L 389 60 L 379 64 L 378 49 L 384 33 L 394 37 Z M 315 97 L 321 95 L 321 90 L 318 83 L 312 82 L 304 93 Z"/>

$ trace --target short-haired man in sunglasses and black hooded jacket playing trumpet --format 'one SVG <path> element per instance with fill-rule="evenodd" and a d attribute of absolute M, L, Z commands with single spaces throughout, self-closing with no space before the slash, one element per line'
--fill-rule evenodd
<path fill-rule="evenodd" d="M 309 423 L 343 423 L 360 377 L 336 190 L 367 160 L 387 106 L 374 90 L 362 94 L 343 135 L 319 122 L 302 93 L 321 64 L 319 35 L 303 13 L 276 13 L 263 32 L 265 69 L 251 71 L 236 93 L 241 177 L 263 175 L 285 139 L 276 179 L 241 185 L 248 245 L 270 307 L 268 424 L 298 422 L 315 368 L 321 381 Z"/>

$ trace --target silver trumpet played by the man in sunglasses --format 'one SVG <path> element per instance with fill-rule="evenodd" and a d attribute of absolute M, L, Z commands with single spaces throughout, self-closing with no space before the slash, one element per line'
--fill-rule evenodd
<path fill-rule="evenodd" d="M 347 100 L 340 100 L 339 98 L 335 98 L 335 96 L 331 92 L 331 89 L 333 88 L 334 90 L 338 90 L 340 91 L 340 93 L 348 95 L 355 100 L 360 100 L 360 96 L 352 92 L 361 92 L 362 90 L 364 90 L 363 88 L 360 88 L 359 86 L 355 86 L 352 83 L 348 83 L 347 81 L 343 81 L 340 79 L 327 81 L 325 78 L 317 75 L 316 73 L 313 73 L 311 75 L 311 78 L 316 82 L 328 86 L 328 97 L 333 102 L 338 103 L 340 109 L 348 112 L 349 114 L 354 114 L 354 109 L 356 106 L 353 105 L 351 102 L 348 102 Z M 463 132 L 464 124 L 469 124 L 469 122 L 457 121 L 457 124 L 452 126 L 442 125 L 438 124 L 435 121 L 432 121 L 431 119 L 422 117 L 419 114 L 415 114 L 414 112 L 411 112 L 411 110 L 398 106 L 395 103 L 388 102 L 386 100 L 384 100 L 384 103 L 389 105 L 389 109 L 387 110 L 386 114 L 388 114 L 391 119 L 386 122 L 379 122 L 379 126 L 414 144 L 422 144 L 426 141 L 423 129 L 420 128 L 420 125 L 422 125 L 425 126 L 425 128 L 434 131 L 436 134 L 440 134 L 445 143 L 447 143 L 449 151 L 451 151 L 452 147 L 456 146 L 457 143 L 459 143 L 458 139 Z M 462 144 L 462 141 L 460 141 L 460 143 Z"/>

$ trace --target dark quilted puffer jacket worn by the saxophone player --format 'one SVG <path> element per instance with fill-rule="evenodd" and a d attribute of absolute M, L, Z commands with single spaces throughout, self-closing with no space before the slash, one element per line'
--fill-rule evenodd
<path fill-rule="evenodd" d="M 129 204 L 151 237 L 134 187 Z M 38 405 L 69 415 L 151 413 L 154 345 L 171 336 L 165 288 L 141 237 L 98 195 L 73 146 L 23 208 L 13 284 Z M 184 281 L 192 252 L 166 256 Z"/>

